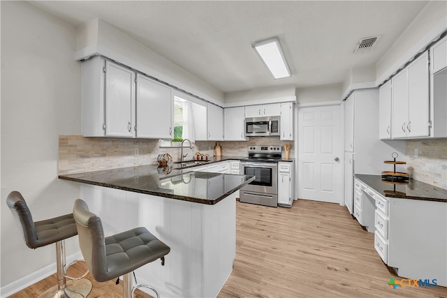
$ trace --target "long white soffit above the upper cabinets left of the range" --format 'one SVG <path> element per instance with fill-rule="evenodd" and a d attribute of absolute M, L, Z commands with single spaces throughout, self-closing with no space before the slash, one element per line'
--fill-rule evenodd
<path fill-rule="evenodd" d="M 102 20 L 92 20 L 80 27 L 77 45 L 77 59 L 99 53 L 223 106 L 222 91 Z"/>

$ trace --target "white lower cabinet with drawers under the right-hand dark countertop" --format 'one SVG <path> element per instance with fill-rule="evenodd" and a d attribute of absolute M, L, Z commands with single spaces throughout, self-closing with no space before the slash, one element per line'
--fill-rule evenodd
<path fill-rule="evenodd" d="M 363 188 L 354 214 L 362 225 L 365 216 L 374 217 L 374 248 L 383 262 L 402 278 L 447 286 L 447 204 L 384 197 L 357 179 L 356 186 Z M 370 198 L 374 206 L 368 206 Z"/>

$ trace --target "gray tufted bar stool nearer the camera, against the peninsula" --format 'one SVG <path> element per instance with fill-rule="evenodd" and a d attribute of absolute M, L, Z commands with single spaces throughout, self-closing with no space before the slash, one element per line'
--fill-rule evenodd
<path fill-rule="evenodd" d="M 89 211 L 83 200 L 75 200 L 73 216 L 78 227 L 79 245 L 87 267 L 96 281 L 110 281 L 123 276 L 123 297 L 133 297 L 137 288 L 149 288 L 156 297 L 159 293 L 149 285 L 132 287 L 132 271 L 170 252 L 170 247 L 151 234 L 146 228 L 104 237 L 101 218 Z"/>

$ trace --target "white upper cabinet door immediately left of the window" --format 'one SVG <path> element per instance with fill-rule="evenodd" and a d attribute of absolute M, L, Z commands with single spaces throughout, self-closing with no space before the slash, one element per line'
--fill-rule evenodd
<path fill-rule="evenodd" d="M 173 97 L 171 89 L 137 75 L 136 86 L 137 137 L 173 138 Z"/>

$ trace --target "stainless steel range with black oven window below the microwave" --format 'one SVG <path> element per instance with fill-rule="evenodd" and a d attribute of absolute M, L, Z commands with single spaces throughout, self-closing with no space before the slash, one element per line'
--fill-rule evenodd
<path fill-rule="evenodd" d="M 240 202 L 278 207 L 278 161 L 281 146 L 250 146 L 249 157 L 241 160 L 241 174 L 254 181 L 240 190 Z"/>

